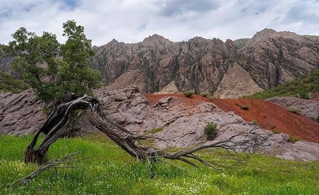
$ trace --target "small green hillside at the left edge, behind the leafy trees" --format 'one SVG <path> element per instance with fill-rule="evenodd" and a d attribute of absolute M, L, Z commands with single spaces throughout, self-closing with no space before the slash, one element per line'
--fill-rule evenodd
<path fill-rule="evenodd" d="M 0 92 L 20 93 L 28 88 L 30 86 L 25 82 L 0 72 Z"/>

